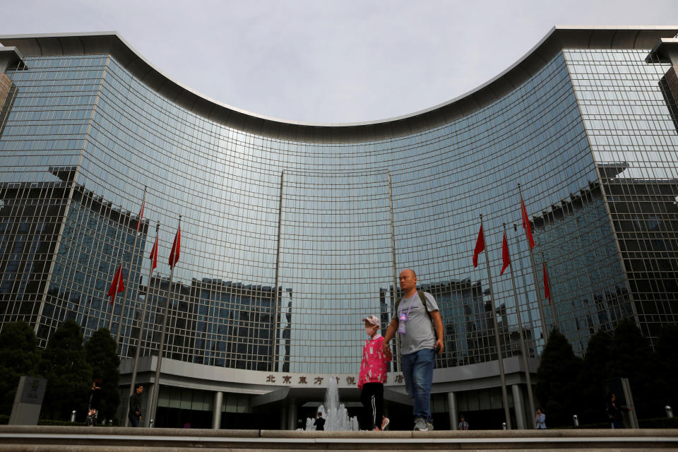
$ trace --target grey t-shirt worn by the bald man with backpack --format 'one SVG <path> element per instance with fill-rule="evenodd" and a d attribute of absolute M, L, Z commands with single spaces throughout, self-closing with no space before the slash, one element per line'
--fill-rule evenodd
<path fill-rule="evenodd" d="M 428 292 L 422 293 L 426 299 L 429 312 L 438 311 L 438 304 L 436 304 L 436 299 L 434 299 L 433 295 Z M 412 309 L 410 309 L 410 300 L 412 301 Z M 406 322 L 405 334 L 396 333 L 400 336 L 400 355 L 410 355 L 424 348 L 434 348 L 436 345 L 435 330 L 429 314 L 424 309 L 424 304 L 422 304 L 419 294 L 415 293 L 415 296 L 412 298 L 403 297 L 398 305 L 398 311 L 393 315 L 393 319 L 398 320 L 401 310 L 403 314 L 408 314 L 408 309 L 410 309 L 410 315 Z"/>

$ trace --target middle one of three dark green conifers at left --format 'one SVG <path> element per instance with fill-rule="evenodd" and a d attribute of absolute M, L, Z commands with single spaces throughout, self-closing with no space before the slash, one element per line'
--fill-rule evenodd
<path fill-rule="evenodd" d="M 85 359 L 81 326 L 64 321 L 47 342 L 40 365 L 47 381 L 41 416 L 66 420 L 71 410 L 84 417 L 92 386 L 92 367 Z"/>

